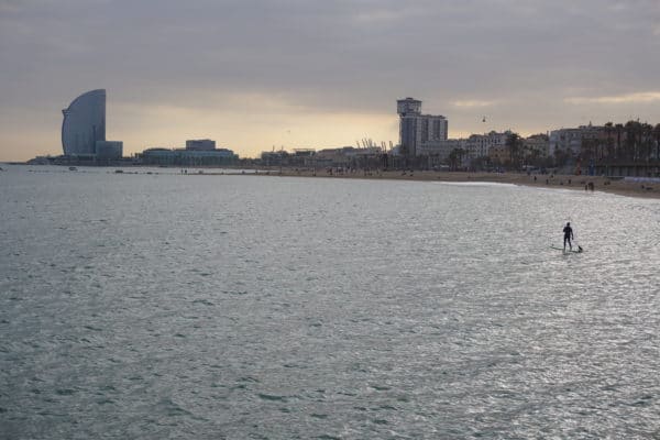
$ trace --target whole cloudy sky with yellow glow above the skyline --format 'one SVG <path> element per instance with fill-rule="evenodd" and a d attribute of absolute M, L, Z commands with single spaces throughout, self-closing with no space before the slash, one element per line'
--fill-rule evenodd
<path fill-rule="evenodd" d="M 97 88 L 124 155 L 396 144 L 406 97 L 450 138 L 656 124 L 659 54 L 658 0 L 0 0 L 0 161 Z"/>

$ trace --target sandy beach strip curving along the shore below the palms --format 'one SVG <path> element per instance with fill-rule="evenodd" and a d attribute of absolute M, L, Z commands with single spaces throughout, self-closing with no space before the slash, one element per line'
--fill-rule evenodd
<path fill-rule="evenodd" d="M 539 188 L 561 188 L 581 191 L 604 191 L 630 197 L 660 198 L 660 183 L 630 182 L 624 178 L 604 176 L 575 176 L 550 174 L 522 174 L 522 173 L 464 173 L 464 172 L 400 172 L 400 170 L 373 170 L 364 173 L 329 173 L 327 169 L 310 168 L 273 168 L 260 169 L 258 175 L 282 175 L 299 177 L 323 178 L 369 178 L 393 180 L 421 180 L 421 182 L 490 182 L 498 184 L 526 185 Z M 593 188 L 593 189 L 592 189 Z"/>

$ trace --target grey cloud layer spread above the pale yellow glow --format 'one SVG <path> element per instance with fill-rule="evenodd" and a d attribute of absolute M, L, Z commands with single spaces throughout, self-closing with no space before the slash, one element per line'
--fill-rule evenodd
<path fill-rule="evenodd" d="M 0 111 L 59 108 L 97 87 L 109 102 L 204 108 L 256 94 L 319 113 L 394 113 L 415 96 L 450 130 L 481 111 L 455 102 L 493 103 L 515 128 L 539 105 L 571 116 L 587 101 L 570 98 L 656 92 L 658 23 L 654 0 L 4 0 Z"/>

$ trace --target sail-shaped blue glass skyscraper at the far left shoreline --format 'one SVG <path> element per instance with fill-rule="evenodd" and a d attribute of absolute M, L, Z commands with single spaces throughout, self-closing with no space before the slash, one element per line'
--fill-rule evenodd
<path fill-rule="evenodd" d="M 82 94 L 62 112 L 64 154 L 96 154 L 96 142 L 106 140 L 106 90 L 97 89 Z"/>

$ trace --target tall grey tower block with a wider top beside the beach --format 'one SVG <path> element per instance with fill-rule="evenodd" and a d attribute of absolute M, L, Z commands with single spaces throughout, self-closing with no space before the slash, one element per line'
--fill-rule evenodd
<path fill-rule="evenodd" d="M 449 122 L 443 116 L 422 114 L 421 101 L 414 98 L 396 101 L 399 116 L 399 145 L 403 155 L 419 156 L 447 140 Z"/>

